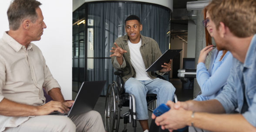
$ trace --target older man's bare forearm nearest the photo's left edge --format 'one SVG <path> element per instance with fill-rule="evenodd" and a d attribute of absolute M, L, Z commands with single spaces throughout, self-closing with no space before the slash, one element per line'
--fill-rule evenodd
<path fill-rule="evenodd" d="M 37 107 L 3 99 L 0 102 L 0 115 L 3 116 L 36 116 Z"/>

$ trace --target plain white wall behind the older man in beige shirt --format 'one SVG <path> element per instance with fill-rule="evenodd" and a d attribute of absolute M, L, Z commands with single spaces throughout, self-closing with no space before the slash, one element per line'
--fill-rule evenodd
<path fill-rule="evenodd" d="M 11 0 L 0 0 L 0 38 L 9 30 L 7 9 Z M 38 0 L 47 26 L 40 41 L 46 64 L 61 85 L 65 100 L 72 99 L 72 1 Z"/>

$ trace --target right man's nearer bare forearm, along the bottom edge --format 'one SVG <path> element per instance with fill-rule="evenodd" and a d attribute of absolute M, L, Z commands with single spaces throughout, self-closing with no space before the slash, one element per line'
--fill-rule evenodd
<path fill-rule="evenodd" d="M 256 132 L 241 114 L 194 113 L 187 125 L 191 126 L 191 122 L 193 126 L 211 132 Z"/>

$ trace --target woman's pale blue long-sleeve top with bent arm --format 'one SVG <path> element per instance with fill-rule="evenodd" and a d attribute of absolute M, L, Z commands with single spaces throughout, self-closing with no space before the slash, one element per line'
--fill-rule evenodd
<path fill-rule="evenodd" d="M 233 56 L 230 52 L 226 52 L 221 61 L 219 61 L 222 55 L 222 51 L 218 51 L 216 48 L 212 50 L 208 71 L 204 63 L 197 64 L 196 79 L 202 94 L 197 96 L 195 100 L 214 99 L 222 91 L 224 85 L 227 84 Z"/>

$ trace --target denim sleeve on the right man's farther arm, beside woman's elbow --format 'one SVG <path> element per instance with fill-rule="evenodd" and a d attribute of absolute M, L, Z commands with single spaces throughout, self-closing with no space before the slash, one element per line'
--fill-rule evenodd
<path fill-rule="evenodd" d="M 235 68 L 235 66 L 230 70 L 227 84 L 223 87 L 221 93 L 219 93 L 215 98 L 222 104 L 226 113 L 232 113 L 237 108 L 236 86 L 234 83 L 234 77 L 236 77 L 236 74 L 234 73 L 233 68 Z"/>

